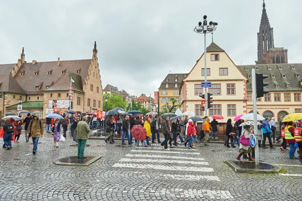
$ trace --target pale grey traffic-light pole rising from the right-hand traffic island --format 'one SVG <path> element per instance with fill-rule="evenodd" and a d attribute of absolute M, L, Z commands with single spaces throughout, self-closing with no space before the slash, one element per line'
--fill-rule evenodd
<path fill-rule="evenodd" d="M 254 135 L 256 137 L 255 164 L 259 165 L 258 126 L 257 126 L 257 94 L 256 94 L 256 71 L 255 71 L 255 69 L 252 69 L 252 88 L 253 88 Z"/>

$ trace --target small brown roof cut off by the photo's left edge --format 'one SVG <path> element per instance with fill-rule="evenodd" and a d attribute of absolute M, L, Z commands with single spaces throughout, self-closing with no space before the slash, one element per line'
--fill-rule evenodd
<path fill-rule="evenodd" d="M 11 74 L 0 74 L 0 92 L 26 94 Z"/>

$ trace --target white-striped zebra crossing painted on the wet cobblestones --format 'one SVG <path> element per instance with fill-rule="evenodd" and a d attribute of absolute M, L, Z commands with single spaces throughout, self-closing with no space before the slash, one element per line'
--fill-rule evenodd
<path fill-rule="evenodd" d="M 213 173 L 214 169 L 209 163 L 201 158 L 198 149 L 175 147 L 164 150 L 157 144 L 148 147 L 135 147 L 124 158 L 116 162 L 112 167 L 129 168 L 134 173 L 142 174 L 143 169 L 156 170 L 154 179 L 187 180 L 219 182 L 218 176 L 204 175 Z M 169 171 L 169 174 L 164 171 Z M 140 172 L 141 171 L 141 172 Z M 175 171 L 175 172 L 174 172 Z M 178 172 L 177 172 L 178 171 Z M 180 175 L 179 171 L 185 171 Z M 234 198 L 229 191 L 211 189 L 166 189 L 165 193 L 178 194 L 179 197 L 210 197 L 214 199 Z M 159 192 L 161 194 L 161 192 Z"/>

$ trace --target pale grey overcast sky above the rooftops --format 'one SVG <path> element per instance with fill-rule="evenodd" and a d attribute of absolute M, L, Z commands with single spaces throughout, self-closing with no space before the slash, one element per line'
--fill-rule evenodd
<path fill-rule="evenodd" d="M 109 3 L 110 2 L 110 3 Z M 218 22 L 214 42 L 236 64 L 257 60 L 262 0 L 1 1 L 0 63 L 92 57 L 97 41 L 103 88 L 154 96 L 166 75 L 188 73 L 203 53 L 193 31 L 203 15 Z M 300 0 L 266 0 L 275 47 L 302 62 Z M 211 35 L 207 35 L 207 44 Z"/>

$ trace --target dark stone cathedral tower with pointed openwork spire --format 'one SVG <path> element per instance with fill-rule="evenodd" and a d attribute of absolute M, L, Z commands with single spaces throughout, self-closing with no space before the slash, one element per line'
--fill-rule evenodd
<path fill-rule="evenodd" d="M 287 63 L 287 49 L 274 46 L 273 28 L 270 27 L 263 0 L 258 38 L 258 60 L 256 64 Z"/>

